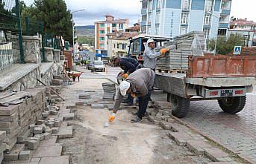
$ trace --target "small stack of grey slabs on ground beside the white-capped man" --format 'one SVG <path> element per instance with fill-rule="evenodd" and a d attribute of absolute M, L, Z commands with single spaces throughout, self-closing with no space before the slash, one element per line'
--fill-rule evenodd
<path fill-rule="evenodd" d="M 102 88 L 104 91 L 103 99 L 113 100 L 116 95 L 116 85 L 113 82 L 102 83 Z"/>

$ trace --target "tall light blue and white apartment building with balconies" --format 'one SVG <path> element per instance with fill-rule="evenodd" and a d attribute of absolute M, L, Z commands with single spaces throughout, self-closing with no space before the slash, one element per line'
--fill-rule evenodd
<path fill-rule="evenodd" d="M 226 36 L 231 0 L 143 0 L 142 33 L 175 37 L 204 31 L 205 39 Z"/>

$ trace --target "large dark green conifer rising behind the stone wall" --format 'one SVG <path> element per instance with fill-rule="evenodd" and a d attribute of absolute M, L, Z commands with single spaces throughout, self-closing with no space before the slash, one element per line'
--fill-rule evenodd
<path fill-rule="evenodd" d="M 63 0 L 35 0 L 35 17 L 44 24 L 44 32 L 72 42 L 72 14 Z"/>

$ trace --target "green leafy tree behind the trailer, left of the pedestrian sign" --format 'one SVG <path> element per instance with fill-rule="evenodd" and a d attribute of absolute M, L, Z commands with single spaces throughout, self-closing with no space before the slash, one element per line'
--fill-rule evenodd
<path fill-rule="evenodd" d="M 213 51 L 215 48 L 215 39 L 210 39 L 207 43 L 207 48 L 210 51 Z M 229 38 L 218 37 L 216 44 L 216 53 L 226 55 L 228 53 L 233 53 L 234 46 L 243 46 L 244 38 L 240 34 L 231 34 Z"/>

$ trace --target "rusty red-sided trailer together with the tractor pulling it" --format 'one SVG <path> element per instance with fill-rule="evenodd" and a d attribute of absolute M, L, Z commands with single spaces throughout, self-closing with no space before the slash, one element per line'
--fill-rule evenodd
<path fill-rule="evenodd" d="M 137 47 L 143 47 L 143 38 L 139 37 L 139 40 Z M 130 42 L 135 44 L 137 41 Z M 132 50 L 129 50 L 129 56 L 141 56 L 143 61 L 143 49 L 139 54 Z M 191 55 L 187 60 L 185 72 L 156 73 L 154 87 L 167 93 L 172 115 L 186 117 L 191 101 L 211 99 L 217 100 L 222 111 L 228 114 L 243 110 L 246 93 L 252 93 L 256 85 L 256 56 Z"/>

